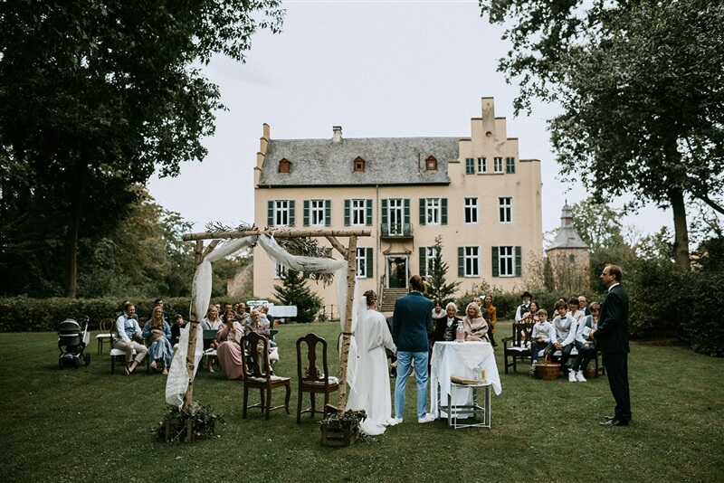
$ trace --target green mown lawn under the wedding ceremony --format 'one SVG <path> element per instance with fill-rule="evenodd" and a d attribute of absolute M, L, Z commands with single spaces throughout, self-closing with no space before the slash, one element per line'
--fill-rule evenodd
<path fill-rule="evenodd" d="M 499 338 L 510 332 L 510 324 L 499 327 Z M 108 352 L 96 355 L 95 341 L 89 367 L 61 371 L 56 334 L 2 334 L 0 480 L 724 480 L 724 359 L 633 344 L 633 421 L 626 428 L 598 425 L 613 413 L 605 378 L 570 384 L 533 380 L 520 369 L 500 374 L 491 430 L 418 425 L 408 384 L 405 422 L 333 449 L 319 445 L 319 416 L 295 422 L 294 342 L 310 331 L 335 341 L 339 326 L 283 326 L 276 337 L 275 371 L 292 377 L 291 415 L 273 412 L 264 421 L 254 411 L 243 420 L 242 384 L 201 372 L 195 399 L 222 412 L 224 423 L 218 438 L 185 445 L 151 432 L 166 409 L 163 375 L 111 376 Z M 334 373 L 338 357 L 330 356 Z M 496 356 L 501 367 L 501 346 Z"/>

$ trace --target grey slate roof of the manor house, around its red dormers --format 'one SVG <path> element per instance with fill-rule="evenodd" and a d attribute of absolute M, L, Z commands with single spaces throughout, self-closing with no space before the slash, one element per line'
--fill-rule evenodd
<path fill-rule="evenodd" d="M 448 161 L 459 157 L 458 137 L 367 137 L 332 139 L 271 139 L 259 185 L 449 185 Z M 436 171 L 425 171 L 428 156 Z M 364 173 L 354 172 L 357 156 Z M 291 162 L 279 173 L 279 161 Z M 419 166 L 419 168 L 418 168 Z"/>

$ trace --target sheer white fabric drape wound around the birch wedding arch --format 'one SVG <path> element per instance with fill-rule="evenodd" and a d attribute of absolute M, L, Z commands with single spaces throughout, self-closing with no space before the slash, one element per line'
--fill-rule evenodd
<path fill-rule="evenodd" d="M 342 330 L 344 330 L 345 307 L 347 305 L 347 260 L 336 260 L 327 258 L 314 258 L 299 255 L 292 255 L 289 251 L 284 250 L 273 237 L 268 235 L 247 236 L 236 240 L 229 240 L 219 243 L 214 251 L 205 256 L 204 260 L 196 267 L 194 274 L 194 282 L 191 288 L 191 297 L 193 299 L 194 313 L 191 314 L 192 319 L 201 320 L 205 317 L 206 309 L 211 301 L 212 289 L 212 263 L 221 260 L 224 257 L 233 255 L 237 251 L 241 251 L 255 242 L 266 251 L 267 255 L 275 262 L 283 265 L 287 269 L 303 271 L 307 273 L 334 273 L 337 279 L 337 305 L 339 308 L 340 319 L 342 319 Z M 357 287 L 357 284 L 355 284 Z M 355 290 L 355 303 L 357 303 L 357 293 Z M 352 316 L 352 331 L 357 327 L 357 315 Z M 189 326 L 190 327 L 190 326 Z M 196 336 L 195 351 L 195 370 L 198 369 L 199 362 L 203 356 L 204 338 L 200 325 L 198 326 L 198 334 Z M 186 347 L 188 346 L 188 331 L 181 331 L 181 339 L 178 343 L 174 362 L 171 364 L 171 370 L 168 373 L 166 384 L 166 401 L 169 404 L 177 405 L 179 408 L 184 403 L 184 395 L 188 389 L 188 373 L 186 371 Z M 186 336 L 185 336 L 186 334 Z M 186 337 L 186 338 L 185 338 Z M 350 345 L 350 362 L 357 360 L 357 345 L 354 346 L 354 358 L 352 357 L 352 346 Z M 356 367 L 356 365 L 355 365 Z M 351 374 L 354 378 L 355 371 Z M 350 368 L 348 366 L 348 377 Z"/>

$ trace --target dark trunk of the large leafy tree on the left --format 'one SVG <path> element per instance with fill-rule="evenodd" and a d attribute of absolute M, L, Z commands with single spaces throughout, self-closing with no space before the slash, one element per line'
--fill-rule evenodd
<path fill-rule="evenodd" d="M 68 236 L 65 242 L 65 297 L 75 298 L 78 286 L 78 237 L 81 232 L 81 208 L 88 175 L 85 155 L 76 163 L 71 181 L 71 205 L 68 211 Z"/>

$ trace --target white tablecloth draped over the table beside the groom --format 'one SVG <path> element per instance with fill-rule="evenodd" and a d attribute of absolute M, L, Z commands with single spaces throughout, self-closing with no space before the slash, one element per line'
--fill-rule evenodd
<path fill-rule="evenodd" d="M 445 403 L 450 394 L 450 377 L 456 375 L 475 379 L 475 368 L 485 370 L 485 378 L 491 382 L 493 391 L 500 394 L 500 374 L 495 365 L 495 355 L 488 342 L 435 342 L 433 358 L 430 361 L 430 412 L 440 417 L 437 390 L 440 387 L 441 401 Z M 480 375 L 480 374 L 478 374 Z M 468 397 L 462 394 L 463 401 Z M 453 403 L 458 403 L 453 401 Z"/>

